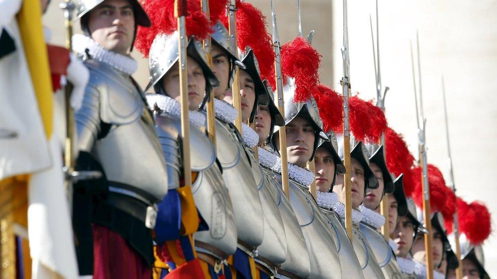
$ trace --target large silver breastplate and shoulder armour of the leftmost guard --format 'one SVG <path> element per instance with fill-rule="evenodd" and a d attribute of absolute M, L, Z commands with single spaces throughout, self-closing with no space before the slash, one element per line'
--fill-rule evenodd
<path fill-rule="evenodd" d="M 167 194 L 168 173 L 153 119 L 131 78 L 89 60 L 90 81 L 75 114 L 78 148 L 91 152 L 108 180 L 140 188 L 157 199 Z M 111 125 L 98 139 L 100 123 Z"/>

